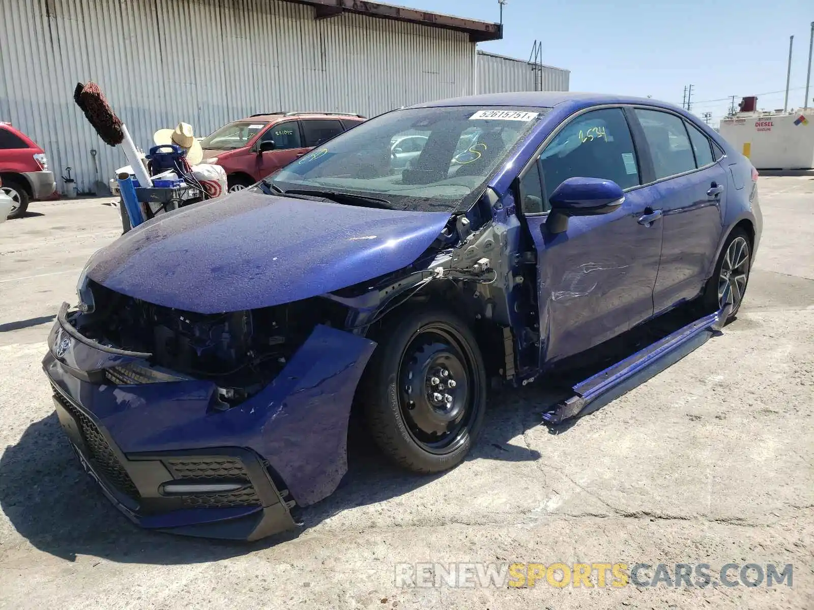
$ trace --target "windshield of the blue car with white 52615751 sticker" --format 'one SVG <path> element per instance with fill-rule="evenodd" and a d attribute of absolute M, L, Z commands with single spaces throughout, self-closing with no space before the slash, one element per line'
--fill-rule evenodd
<path fill-rule="evenodd" d="M 548 110 L 456 106 L 389 112 L 312 150 L 272 182 L 280 190 L 379 198 L 399 210 L 466 209 Z"/>

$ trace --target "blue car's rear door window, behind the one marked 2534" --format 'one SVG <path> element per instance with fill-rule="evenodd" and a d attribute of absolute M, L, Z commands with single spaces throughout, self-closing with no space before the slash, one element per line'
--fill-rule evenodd
<path fill-rule="evenodd" d="M 695 156 L 689 144 L 684 120 L 657 110 L 636 109 L 653 157 L 656 179 L 695 169 Z"/>

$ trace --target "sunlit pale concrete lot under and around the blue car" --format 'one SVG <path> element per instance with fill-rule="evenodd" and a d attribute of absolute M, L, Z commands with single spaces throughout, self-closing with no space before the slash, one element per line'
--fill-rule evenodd
<path fill-rule="evenodd" d="M 81 472 L 40 360 L 120 220 L 104 199 L 34 203 L 0 224 L 0 607 L 814 608 L 814 179 L 760 186 L 763 242 L 722 336 L 558 434 L 540 388 L 495 395 L 478 447 L 440 477 L 356 443 L 299 536 L 253 545 L 137 529 Z M 794 580 L 396 585 L 396 564 L 418 562 L 705 563 L 713 580 L 793 564 Z"/>

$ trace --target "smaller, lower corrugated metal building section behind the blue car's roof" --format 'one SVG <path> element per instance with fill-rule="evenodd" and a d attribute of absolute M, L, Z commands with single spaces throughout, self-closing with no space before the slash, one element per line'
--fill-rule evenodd
<path fill-rule="evenodd" d="M 567 91 L 570 70 L 478 51 L 478 93 Z"/>

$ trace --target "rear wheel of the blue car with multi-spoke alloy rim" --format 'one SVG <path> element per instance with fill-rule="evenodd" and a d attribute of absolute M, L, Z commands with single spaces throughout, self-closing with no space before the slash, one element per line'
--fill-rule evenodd
<path fill-rule="evenodd" d="M 732 313 L 725 320 L 729 324 L 735 319 L 737 311 L 743 303 L 746 294 L 746 285 L 749 282 L 751 271 L 752 250 L 749 235 L 743 229 L 735 229 L 729 233 L 724 247 L 721 248 L 715 272 L 707 281 L 704 289 L 703 303 L 707 312 L 715 312 L 724 307 L 727 291 L 732 294 Z"/>

